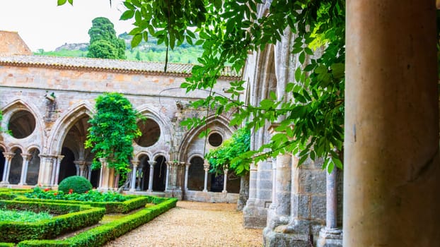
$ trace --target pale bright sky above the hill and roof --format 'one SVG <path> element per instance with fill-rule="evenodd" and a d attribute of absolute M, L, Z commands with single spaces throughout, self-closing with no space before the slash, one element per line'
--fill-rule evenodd
<path fill-rule="evenodd" d="M 0 1 L 0 30 L 18 35 L 36 52 L 53 51 L 64 43 L 88 42 L 88 29 L 96 17 L 106 17 L 116 34 L 129 32 L 133 20 L 119 20 L 125 6 L 122 0 L 74 0 L 74 6 L 57 6 L 57 0 Z M 1 41 L 0 41 L 1 45 Z"/>

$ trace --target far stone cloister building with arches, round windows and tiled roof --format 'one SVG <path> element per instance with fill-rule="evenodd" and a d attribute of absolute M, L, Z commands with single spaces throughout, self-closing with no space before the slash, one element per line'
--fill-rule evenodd
<path fill-rule="evenodd" d="M 0 56 L 0 107 L 2 127 L 10 133 L 0 138 L 1 185 L 57 186 L 67 176 L 81 175 L 95 188 L 117 187 L 109 179 L 112 171 L 90 168 L 93 154 L 84 141 L 95 98 L 120 92 L 146 117 L 138 123 L 142 136 L 133 143 L 134 173 L 127 191 L 181 195 L 185 186 L 187 199 L 236 203 L 240 179 L 230 174 L 224 186 L 223 176 L 209 174 L 205 184 L 203 160 L 236 128 L 228 126 L 227 116 L 209 116 L 205 143 L 199 138 L 203 128 L 186 131 L 180 126 L 185 117 L 207 114 L 189 107 L 207 92 L 187 94 L 180 88 L 190 65 L 169 64 L 164 73 L 158 63 L 33 56 L 16 32 L 0 35 L 3 44 L 9 42 Z M 219 92 L 238 78 L 224 74 Z"/>

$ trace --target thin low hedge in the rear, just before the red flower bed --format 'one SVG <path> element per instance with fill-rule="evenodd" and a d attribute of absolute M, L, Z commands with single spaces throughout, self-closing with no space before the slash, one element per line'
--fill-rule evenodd
<path fill-rule="evenodd" d="M 125 202 L 83 202 L 79 200 L 51 200 L 51 199 L 34 199 L 34 198 L 26 198 L 25 196 L 17 196 L 15 200 L 19 201 L 30 201 L 30 202 L 45 202 L 45 203 L 69 203 L 76 205 L 91 205 L 92 207 L 105 207 L 105 213 L 122 213 L 126 214 L 132 210 L 136 210 L 138 208 L 144 207 L 146 203 L 154 202 L 154 197 L 149 195 L 146 196 L 129 196 L 133 197 L 130 200 L 126 200 Z"/>

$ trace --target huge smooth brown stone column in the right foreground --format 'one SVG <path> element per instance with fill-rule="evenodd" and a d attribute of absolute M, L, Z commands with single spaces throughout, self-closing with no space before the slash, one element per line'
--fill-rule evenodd
<path fill-rule="evenodd" d="M 344 246 L 440 243 L 435 1 L 347 1 Z"/>

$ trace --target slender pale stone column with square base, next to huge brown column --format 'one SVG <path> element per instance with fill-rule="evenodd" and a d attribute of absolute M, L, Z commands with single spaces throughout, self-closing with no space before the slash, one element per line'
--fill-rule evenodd
<path fill-rule="evenodd" d="M 341 246 L 342 247 L 342 229 L 337 227 L 337 167 L 332 173 L 326 172 L 327 188 L 326 195 L 326 217 L 325 227 L 319 232 L 318 247 Z"/>

